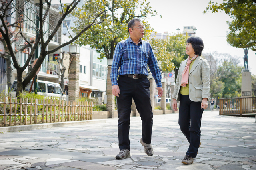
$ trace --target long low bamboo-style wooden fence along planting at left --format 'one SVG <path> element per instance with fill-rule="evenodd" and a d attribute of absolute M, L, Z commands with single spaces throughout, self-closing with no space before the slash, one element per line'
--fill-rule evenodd
<path fill-rule="evenodd" d="M 0 102 L 0 126 L 91 120 L 92 107 L 93 102 L 5 97 Z"/>

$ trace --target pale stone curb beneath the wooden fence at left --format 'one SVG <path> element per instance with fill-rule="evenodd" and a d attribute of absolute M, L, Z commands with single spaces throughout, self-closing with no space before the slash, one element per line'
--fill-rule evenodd
<path fill-rule="evenodd" d="M 0 132 L 17 132 L 23 130 L 33 130 L 41 128 L 52 128 L 52 127 L 66 127 L 75 125 L 86 125 L 93 123 L 106 123 L 106 120 L 96 119 L 87 121 L 70 121 L 70 122 L 55 122 L 55 123 L 44 123 L 44 124 L 32 124 L 32 125 L 17 125 L 10 127 L 0 127 Z"/>

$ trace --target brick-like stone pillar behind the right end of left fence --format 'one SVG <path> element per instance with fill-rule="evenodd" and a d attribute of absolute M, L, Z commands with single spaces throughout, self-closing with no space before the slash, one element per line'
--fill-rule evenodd
<path fill-rule="evenodd" d="M 68 75 L 68 100 L 76 101 L 79 97 L 79 57 L 80 54 L 69 55 L 70 67 Z"/>

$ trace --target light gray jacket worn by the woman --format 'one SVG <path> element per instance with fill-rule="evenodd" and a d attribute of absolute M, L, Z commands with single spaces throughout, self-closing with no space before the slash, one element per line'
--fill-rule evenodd
<path fill-rule="evenodd" d="M 180 84 L 182 72 L 186 67 L 187 60 L 180 63 L 178 76 L 174 86 L 172 98 L 180 100 Z M 188 76 L 189 99 L 191 101 L 202 101 L 203 98 L 210 100 L 210 66 L 206 59 L 197 57 L 192 65 Z"/>

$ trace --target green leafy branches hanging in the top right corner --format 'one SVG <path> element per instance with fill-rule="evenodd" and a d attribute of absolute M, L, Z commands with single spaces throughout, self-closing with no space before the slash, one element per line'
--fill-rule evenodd
<path fill-rule="evenodd" d="M 224 11 L 233 20 L 227 22 L 230 32 L 227 42 L 237 48 L 251 48 L 256 51 L 256 1 L 255 0 L 223 0 L 222 3 L 209 2 L 204 14 Z"/>

